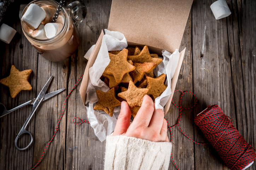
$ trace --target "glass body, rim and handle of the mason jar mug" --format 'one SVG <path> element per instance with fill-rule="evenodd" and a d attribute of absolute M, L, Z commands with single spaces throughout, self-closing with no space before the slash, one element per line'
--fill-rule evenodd
<path fill-rule="evenodd" d="M 58 2 L 54 0 L 34 0 L 24 8 L 22 16 L 32 3 L 38 6 L 58 7 Z M 29 33 L 28 26 L 21 21 L 22 31 L 30 44 L 34 46 L 42 57 L 53 62 L 68 58 L 77 49 L 80 40 L 76 26 L 85 19 L 86 6 L 81 1 L 74 1 L 65 8 L 63 7 L 59 16 L 63 17 L 62 30 L 56 36 L 49 39 L 32 37 Z"/>

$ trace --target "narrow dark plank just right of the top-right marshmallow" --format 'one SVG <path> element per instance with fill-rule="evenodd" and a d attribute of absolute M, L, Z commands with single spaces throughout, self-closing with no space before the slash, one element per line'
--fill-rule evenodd
<path fill-rule="evenodd" d="M 228 43 L 229 43 L 229 57 L 231 59 L 232 67 L 232 81 L 233 92 L 235 99 L 235 113 L 237 119 L 237 129 L 242 136 L 247 136 L 246 125 L 246 111 L 244 100 L 244 84 L 243 84 L 243 70 L 242 58 L 240 51 L 240 35 L 239 35 L 239 18 L 237 3 L 235 0 L 227 1 L 229 9 L 231 10 L 231 17 L 227 17 L 228 26 Z M 232 118 L 234 120 L 234 118 Z"/>

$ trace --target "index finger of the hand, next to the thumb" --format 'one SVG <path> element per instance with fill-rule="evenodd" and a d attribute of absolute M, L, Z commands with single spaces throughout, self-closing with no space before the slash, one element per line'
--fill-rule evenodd
<path fill-rule="evenodd" d="M 143 97 L 141 107 L 133 120 L 134 124 L 137 124 L 138 126 L 149 126 L 154 108 L 154 103 L 151 97 L 145 95 Z"/>

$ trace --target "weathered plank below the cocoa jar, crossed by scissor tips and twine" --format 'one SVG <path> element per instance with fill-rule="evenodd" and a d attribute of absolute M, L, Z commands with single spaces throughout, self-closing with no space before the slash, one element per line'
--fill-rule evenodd
<path fill-rule="evenodd" d="M 48 92 L 53 92 L 58 89 L 66 88 L 68 77 L 68 62 L 65 59 L 61 62 L 50 62 L 39 55 L 38 61 L 38 78 L 37 78 L 37 93 L 40 93 L 42 87 L 47 82 L 50 76 L 54 76 Z M 35 141 L 34 141 L 34 157 L 33 165 L 35 165 L 46 147 L 47 142 L 52 138 L 57 126 L 58 119 L 61 115 L 62 105 L 66 98 L 67 91 L 56 95 L 47 101 L 41 103 L 35 115 Z M 65 134 L 66 134 L 66 117 L 62 118 L 59 124 L 59 131 L 47 148 L 45 156 L 40 163 L 40 169 L 62 169 L 65 159 Z M 41 165 L 42 164 L 42 165 Z"/>

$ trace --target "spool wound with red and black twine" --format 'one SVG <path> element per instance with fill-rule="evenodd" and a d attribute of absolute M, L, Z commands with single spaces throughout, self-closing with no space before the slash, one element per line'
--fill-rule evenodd
<path fill-rule="evenodd" d="M 254 161 L 256 154 L 219 106 L 208 106 L 194 120 L 204 136 L 231 170 L 243 170 Z"/>

